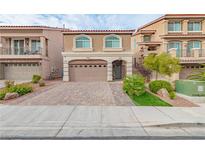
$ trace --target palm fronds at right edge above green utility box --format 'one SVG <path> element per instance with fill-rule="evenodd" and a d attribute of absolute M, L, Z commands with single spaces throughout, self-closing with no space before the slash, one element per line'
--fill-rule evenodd
<path fill-rule="evenodd" d="M 190 80 L 205 81 L 205 64 L 202 64 L 203 68 L 200 68 L 196 73 L 189 75 L 187 78 Z"/>

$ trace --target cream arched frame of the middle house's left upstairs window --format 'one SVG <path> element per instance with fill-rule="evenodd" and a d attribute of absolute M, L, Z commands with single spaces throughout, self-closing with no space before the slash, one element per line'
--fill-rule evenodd
<path fill-rule="evenodd" d="M 76 39 L 79 37 L 88 38 L 90 40 L 90 48 L 77 48 L 76 47 Z M 73 37 L 73 51 L 93 51 L 92 37 L 89 35 L 85 35 L 85 34 L 80 34 L 80 35 L 76 35 L 75 37 Z"/>

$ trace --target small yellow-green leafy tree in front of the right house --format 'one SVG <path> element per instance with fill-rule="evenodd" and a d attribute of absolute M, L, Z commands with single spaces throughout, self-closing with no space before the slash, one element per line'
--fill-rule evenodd
<path fill-rule="evenodd" d="M 144 59 L 145 68 L 155 71 L 156 80 L 158 79 L 158 74 L 171 76 L 174 73 L 178 73 L 181 69 L 179 60 L 172 57 L 168 53 L 149 54 Z"/>

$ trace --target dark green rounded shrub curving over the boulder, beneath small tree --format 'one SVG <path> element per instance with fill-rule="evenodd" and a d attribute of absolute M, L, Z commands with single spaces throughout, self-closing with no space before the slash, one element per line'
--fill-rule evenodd
<path fill-rule="evenodd" d="M 169 98 L 174 99 L 176 94 L 174 92 L 174 88 L 172 87 L 171 83 L 165 80 L 155 80 L 149 84 L 149 89 L 153 93 L 157 93 L 160 89 L 166 89 L 169 93 Z"/>

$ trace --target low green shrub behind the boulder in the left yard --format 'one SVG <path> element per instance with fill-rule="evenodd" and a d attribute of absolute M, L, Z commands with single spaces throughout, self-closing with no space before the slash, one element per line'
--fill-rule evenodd
<path fill-rule="evenodd" d="M 24 84 L 17 84 L 13 87 L 10 87 L 8 89 L 9 92 L 16 92 L 18 93 L 20 96 L 25 95 L 27 93 L 30 93 L 33 91 L 33 87 L 28 84 L 28 83 L 24 83 Z"/>

